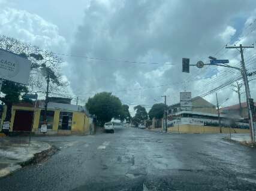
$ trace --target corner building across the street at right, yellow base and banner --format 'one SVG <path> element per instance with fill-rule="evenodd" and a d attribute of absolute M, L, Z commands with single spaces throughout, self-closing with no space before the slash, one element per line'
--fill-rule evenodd
<path fill-rule="evenodd" d="M 249 133 L 249 125 L 239 115 L 221 114 L 201 97 L 191 99 L 191 110 L 180 110 L 180 103 L 168 107 L 167 128 L 176 133 Z M 219 119 L 221 125 L 219 125 Z M 164 121 L 163 121 L 164 122 Z"/>

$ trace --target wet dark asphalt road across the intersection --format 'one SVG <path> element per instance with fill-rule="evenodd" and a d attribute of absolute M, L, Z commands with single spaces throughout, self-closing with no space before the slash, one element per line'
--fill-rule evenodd
<path fill-rule="evenodd" d="M 125 128 L 33 137 L 60 150 L 1 178 L 0 190 L 256 190 L 256 149 L 224 136 Z"/>

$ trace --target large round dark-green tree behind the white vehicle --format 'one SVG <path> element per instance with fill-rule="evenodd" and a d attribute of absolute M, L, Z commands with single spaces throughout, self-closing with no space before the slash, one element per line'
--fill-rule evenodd
<path fill-rule="evenodd" d="M 89 113 L 97 116 L 100 125 L 111 121 L 112 118 L 119 118 L 122 112 L 122 103 L 118 97 L 112 93 L 102 92 L 95 94 L 89 98 L 86 103 L 86 109 Z"/>

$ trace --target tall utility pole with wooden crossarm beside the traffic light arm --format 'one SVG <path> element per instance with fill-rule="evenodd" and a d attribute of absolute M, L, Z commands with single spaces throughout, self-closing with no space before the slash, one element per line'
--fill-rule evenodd
<path fill-rule="evenodd" d="M 254 48 L 253 46 L 251 47 L 243 47 L 242 44 L 239 45 L 239 47 L 226 47 L 226 48 L 239 48 L 237 49 L 240 54 L 241 54 L 241 73 L 243 76 L 243 82 L 245 83 L 245 94 L 246 94 L 246 103 L 247 103 L 247 108 L 248 108 L 248 115 L 249 115 L 249 129 L 250 129 L 250 135 L 251 135 L 251 141 L 255 142 L 255 134 L 254 134 L 254 123 L 253 123 L 253 119 L 252 119 L 252 110 L 251 110 L 251 106 L 249 104 L 249 99 L 251 98 L 250 95 L 250 90 L 249 90 L 249 84 L 248 84 L 248 78 L 247 78 L 247 72 L 246 72 L 246 68 L 245 68 L 245 60 L 243 58 L 243 49 L 244 48 Z"/>

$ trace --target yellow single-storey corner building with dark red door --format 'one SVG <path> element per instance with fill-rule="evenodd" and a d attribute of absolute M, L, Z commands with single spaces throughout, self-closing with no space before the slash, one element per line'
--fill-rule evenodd
<path fill-rule="evenodd" d="M 34 104 L 15 104 L 11 110 L 10 132 L 41 133 L 44 124 L 43 101 Z M 46 113 L 47 134 L 89 133 L 92 118 L 82 106 L 49 102 Z"/>

